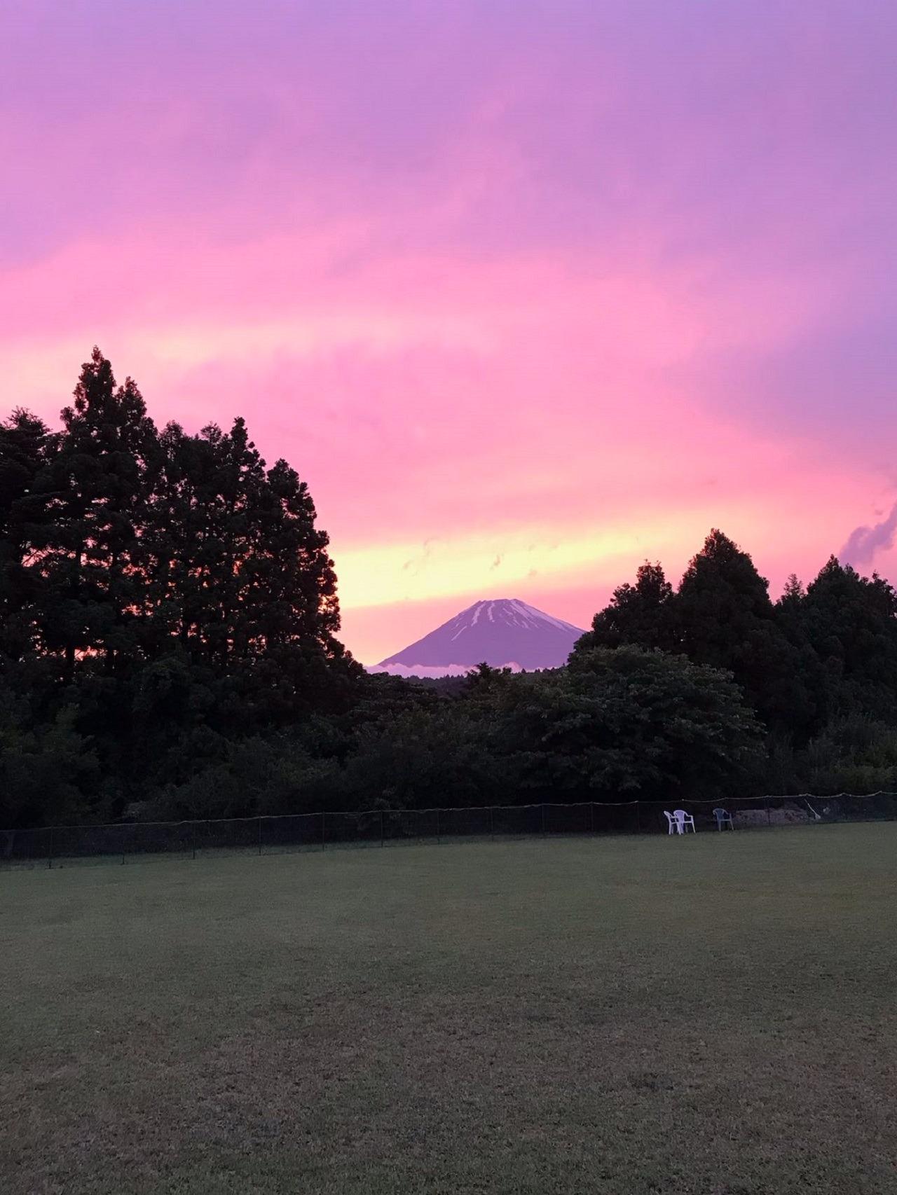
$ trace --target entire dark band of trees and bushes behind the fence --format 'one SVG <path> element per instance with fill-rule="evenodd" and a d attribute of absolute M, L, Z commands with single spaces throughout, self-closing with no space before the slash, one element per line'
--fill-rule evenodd
<path fill-rule="evenodd" d="M 93 350 L 0 424 L 0 827 L 897 789 L 897 595 L 830 558 L 773 600 L 712 531 L 566 667 L 368 675 L 309 489 L 243 419 L 158 429 Z"/>

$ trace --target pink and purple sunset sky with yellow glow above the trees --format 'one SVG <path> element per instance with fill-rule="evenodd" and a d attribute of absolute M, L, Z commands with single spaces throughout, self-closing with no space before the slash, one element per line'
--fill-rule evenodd
<path fill-rule="evenodd" d="M 309 483 L 373 663 L 712 527 L 897 580 L 893 0 L 0 5 L 0 411 Z"/>

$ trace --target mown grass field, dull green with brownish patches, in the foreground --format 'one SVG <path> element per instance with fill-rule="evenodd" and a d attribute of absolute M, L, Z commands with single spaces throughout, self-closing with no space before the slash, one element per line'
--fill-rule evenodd
<path fill-rule="evenodd" d="M 897 825 L 0 875 L 0 1190 L 897 1191 Z"/>

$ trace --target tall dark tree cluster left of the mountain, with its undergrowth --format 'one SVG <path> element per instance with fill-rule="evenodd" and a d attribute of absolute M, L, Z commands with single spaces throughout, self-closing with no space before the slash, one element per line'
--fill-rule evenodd
<path fill-rule="evenodd" d="M 158 430 L 99 350 L 0 429 L 0 821 L 117 817 L 354 700 L 305 483 L 237 419 Z"/>

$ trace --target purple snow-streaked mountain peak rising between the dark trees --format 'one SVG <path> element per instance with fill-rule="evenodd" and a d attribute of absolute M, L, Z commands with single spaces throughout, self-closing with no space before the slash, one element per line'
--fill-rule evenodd
<path fill-rule="evenodd" d="M 493 668 L 560 668 L 584 632 L 517 598 L 477 601 L 372 672 L 399 676 L 463 675 L 483 661 Z"/>

